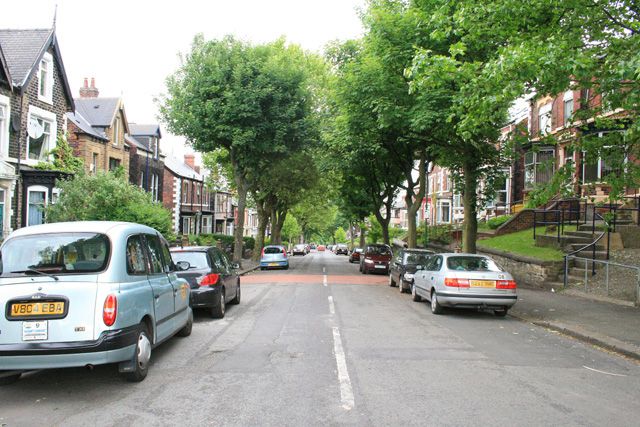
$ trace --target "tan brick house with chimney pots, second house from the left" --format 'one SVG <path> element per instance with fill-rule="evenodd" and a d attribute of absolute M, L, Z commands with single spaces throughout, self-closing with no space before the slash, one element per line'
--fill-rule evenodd
<path fill-rule="evenodd" d="M 121 98 L 99 98 L 95 80 L 84 79 L 76 109 L 67 113 L 68 141 L 75 156 L 84 161 L 85 172 L 113 171 L 122 166 L 129 171 L 127 117 Z"/>

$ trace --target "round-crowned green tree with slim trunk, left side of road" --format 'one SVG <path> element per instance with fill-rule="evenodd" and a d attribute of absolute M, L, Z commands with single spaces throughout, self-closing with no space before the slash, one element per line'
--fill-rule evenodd
<path fill-rule="evenodd" d="M 198 151 L 223 149 L 228 155 L 238 195 L 236 261 L 255 177 L 292 148 L 315 139 L 312 62 L 282 39 L 252 46 L 231 36 L 205 41 L 199 35 L 167 79 L 160 113 L 169 129 L 185 135 Z"/>

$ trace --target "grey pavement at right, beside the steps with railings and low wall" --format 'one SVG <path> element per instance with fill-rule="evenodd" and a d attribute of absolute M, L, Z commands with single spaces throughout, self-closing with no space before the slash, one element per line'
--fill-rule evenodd
<path fill-rule="evenodd" d="M 640 308 L 547 290 L 518 289 L 512 317 L 640 360 Z"/>

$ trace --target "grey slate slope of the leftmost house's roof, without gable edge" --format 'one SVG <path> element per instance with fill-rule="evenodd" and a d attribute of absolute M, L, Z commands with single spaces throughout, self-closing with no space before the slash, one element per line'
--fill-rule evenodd
<path fill-rule="evenodd" d="M 24 85 L 52 34 L 52 29 L 0 30 L 0 45 L 14 86 Z"/>

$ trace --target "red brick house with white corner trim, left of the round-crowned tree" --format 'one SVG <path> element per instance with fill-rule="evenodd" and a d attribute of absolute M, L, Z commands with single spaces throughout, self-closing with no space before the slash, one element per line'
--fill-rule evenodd
<path fill-rule="evenodd" d="M 178 234 L 213 232 L 214 197 L 205 184 L 193 154 L 184 162 L 166 158 L 162 204 L 171 211 L 174 231 Z"/>

